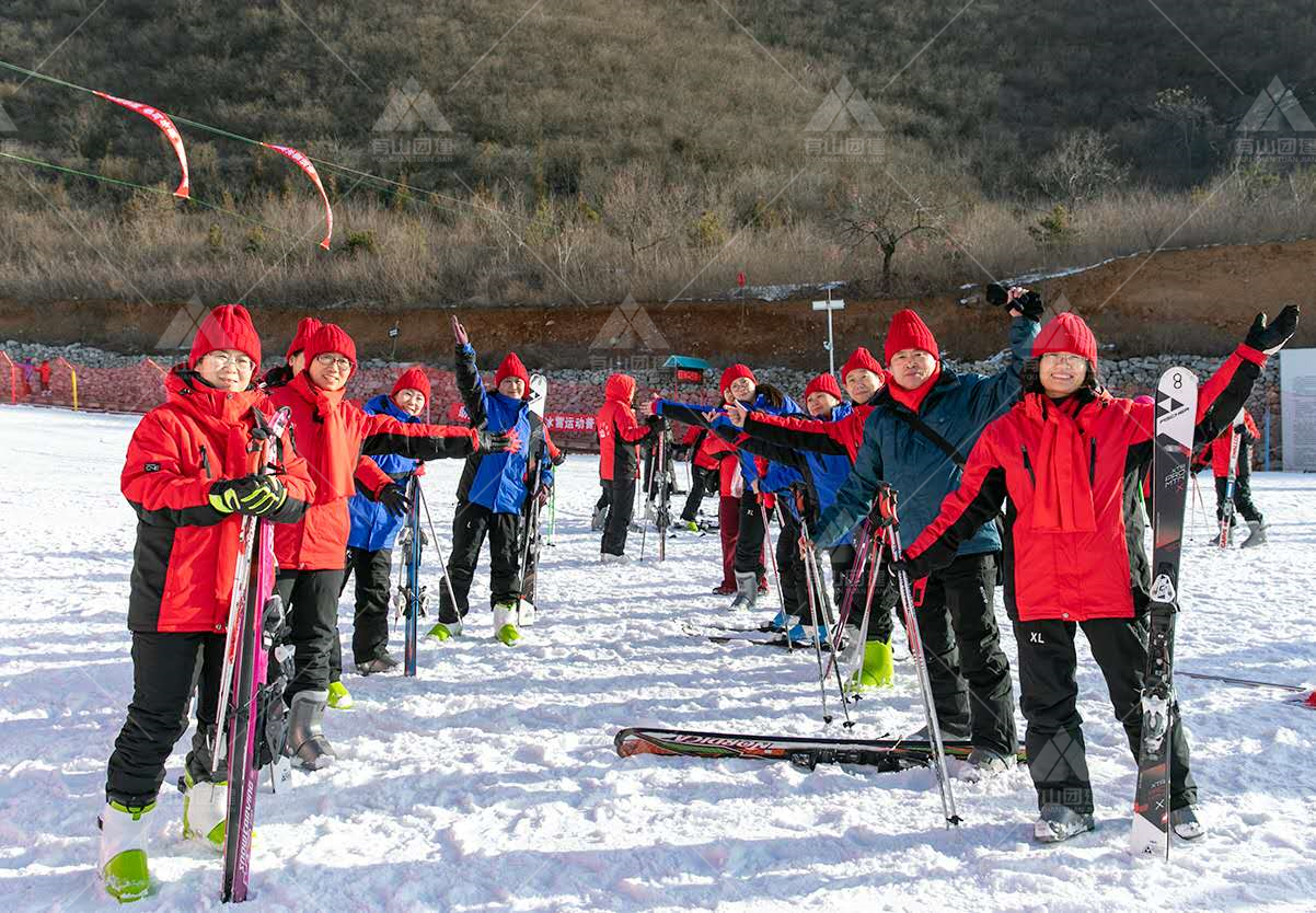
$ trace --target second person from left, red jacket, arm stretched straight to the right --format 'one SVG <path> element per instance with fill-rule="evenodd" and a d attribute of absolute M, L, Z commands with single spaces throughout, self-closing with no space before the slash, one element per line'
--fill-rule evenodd
<path fill-rule="evenodd" d="M 355 493 L 359 455 L 459 458 L 476 450 L 516 449 L 520 441 L 515 433 L 491 435 L 474 428 L 367 416 L 343 400 L 347 379 L 357 370 L 357 345 L 334 324 L 325 324 L 307 341 L 305 358 L 301 374 L 275 389 L 270 400 L 292 410 L 293 435 L 311 464 L 316 496 L 300 522 L 275 530 L 274 547 L 279 560 L 275 587 L 288 608 L 288 642 L 295 649 L 286 692 L 291 708 L 288 750 L 303 767 L 318 770 L 334 758 L 324 735 L 324 710 L 347 551 L 347 499 Z"/>

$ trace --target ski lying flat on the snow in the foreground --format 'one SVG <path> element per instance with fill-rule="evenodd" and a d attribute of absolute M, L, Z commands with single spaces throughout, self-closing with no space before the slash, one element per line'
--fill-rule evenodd
<path fill-rule="evenodd" d="M 786 760 L 804 770 L 819 764 L 862 764 L 894 772 L 933 763 L 933 745 L 926 739 L 796 738 L 636 726 L 619 731 L 613 745 L 621 758 L 649 754 L 715 760 Z M 965 759 L 973 745 L 951 741 L 942 742 L 942 749 L 951 758 Z M 1024 760 L 1023 749 L 1019 750 L 1019 759 Z"/>

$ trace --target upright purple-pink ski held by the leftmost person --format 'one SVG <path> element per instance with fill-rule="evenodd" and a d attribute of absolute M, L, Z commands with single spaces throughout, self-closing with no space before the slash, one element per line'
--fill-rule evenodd
<path fill-rule="evenodd" d="M 253 409 L 253 438 L 259 453 L 258 472 L 278 470 L 274 464 L 278 441 L 288 425 L 290 414 L 287 408 L 279 409 L 267 422 L 258 409 Z M 251 521 L 249 530 L 247 520 Z M 259 738 L 265 738 L 267 729 L 267 725 L 258 729 L 257 721 L 267 678 L 267 655 L 283 626 L 283 605 L 274 592 L 274 524 L 265 518 L 243 518 L 243 530 L 247 531 L 246 560 L 240 559 L 238 574 L 245 574 L 241 581 L 245 587 L 245 604 L 238 618 L 240 630 L 234 637 L 232 692 L 220 696 L 221 703 L 232 705 L 228 722 L 229 808 L 224 833 L 224 881 L 220 888 L 220 899 L 225 904 L 240 904 L 247 899 L 251 826 L 259 783 L 258 733 Z M 238 583 L 234 580 L 234 585 Z M 279 700 L 282 701 L 282 695 Z M 216 739 L 220 738 L 224 738 L 224 733 L 216 730 Z"/>

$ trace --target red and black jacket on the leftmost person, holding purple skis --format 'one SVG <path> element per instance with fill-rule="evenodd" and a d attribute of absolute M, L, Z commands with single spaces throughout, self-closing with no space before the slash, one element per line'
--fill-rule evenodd
<path fill-rule="evenodd" d="M 274 409 L 257 389 L 228 393 L 174 368 L 167 399 L 133 432 L 120 476 L 137 512 L 128 628 L 134 631 L 209 631 L 228 625 L 242 517 L 211 506 L 211 485 L 257 471 L 253 409 Z M 311 471 L 284 432 L 275 462 L 287 500 L 274 522 L 296 522 L 315 495 Z"/>

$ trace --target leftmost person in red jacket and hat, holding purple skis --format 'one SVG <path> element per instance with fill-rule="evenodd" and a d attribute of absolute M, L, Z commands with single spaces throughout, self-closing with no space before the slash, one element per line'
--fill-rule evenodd
<path fill-rule="evenodd" d="M 259 364 L 261 339 L 246 308 L 215 308 L 187 363 L 167 375 L 166 403 L 146 413 L 128 446 L 121 485 L 137 512 L 128 603 L 133 700 L 109 758 L 100 818 L 100 872 L 120 900 L 136 900 L 147 888 L 150 812 L 164 762 L 187 731 L 197 671 L 183 834 L 222 849 L 228 784 L 212 783 L 211 768 L 238 530 L 243 516 L 287 529 L 315 495 L 309 467 L 287 432 L 276 447 L 278 474 L 258 474 L 249 447 L 255 413 L 272 413 L 251 383 Z"/>

